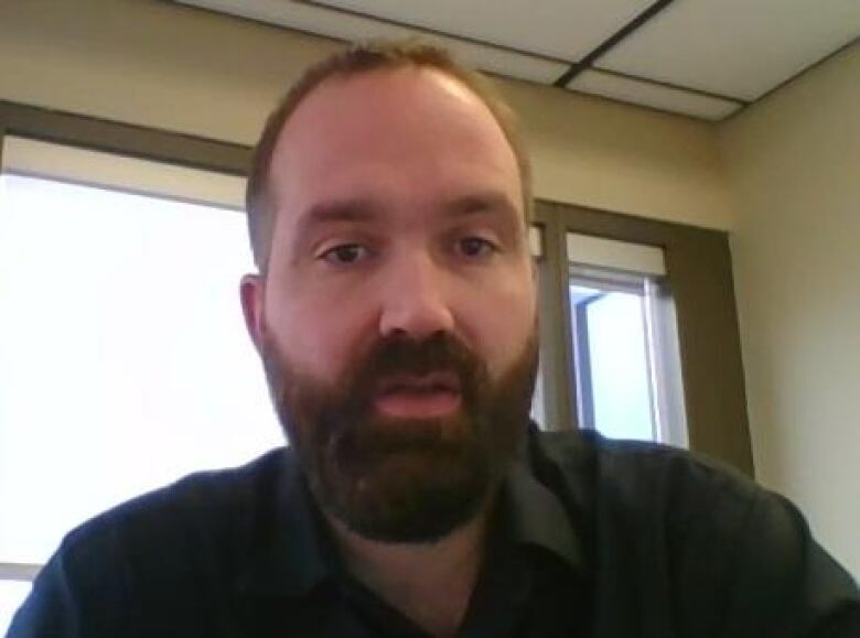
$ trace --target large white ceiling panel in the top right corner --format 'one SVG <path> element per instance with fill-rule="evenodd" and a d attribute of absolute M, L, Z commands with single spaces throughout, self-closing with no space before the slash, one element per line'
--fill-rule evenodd
<path fill-rule="evenodd" d="M 858 34 L 858 0 L 687 0 L 596 66 L 755 100 Z"/>

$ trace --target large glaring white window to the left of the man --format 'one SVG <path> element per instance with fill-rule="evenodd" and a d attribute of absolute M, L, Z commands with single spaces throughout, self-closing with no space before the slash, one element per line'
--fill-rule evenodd
<path fill-rule="evenodd" d="M 47 150 L 17 141 L 3 156 L 32 167 Z M 58 153 L 93 167 L 92 152 Z M 0 634 L 66 531 L 282 444 L 238 303 L 252 270 L 234 207 L 0 176 Z"/>

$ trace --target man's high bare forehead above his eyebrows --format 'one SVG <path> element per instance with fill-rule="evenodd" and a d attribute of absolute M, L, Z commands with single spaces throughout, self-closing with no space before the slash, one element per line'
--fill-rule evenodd
<path fill-rule="evenodd" d="M 321 198 L 432 198 L 499 191 L 520 206 L 516 158 L 490 108 L 442 72 L 330 78 L 280 132 L 270 191 L 280 217 Z"/>

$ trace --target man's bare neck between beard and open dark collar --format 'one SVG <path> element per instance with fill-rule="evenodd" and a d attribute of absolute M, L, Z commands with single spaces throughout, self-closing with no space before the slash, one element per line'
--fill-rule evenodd
<path fill-rule="evenodd" d="M 431 543 L 368 540 L 326 516 L 350 572 L 437 637 L 456 634 L 483 558 L 488 507 Z"/>

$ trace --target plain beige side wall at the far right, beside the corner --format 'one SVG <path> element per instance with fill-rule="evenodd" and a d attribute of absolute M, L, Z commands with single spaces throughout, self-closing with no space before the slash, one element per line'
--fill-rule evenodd
<path fill-rule="evenodd" d="M 860 576 L 860 44 L 721 145 L 756 477 Z"/>

